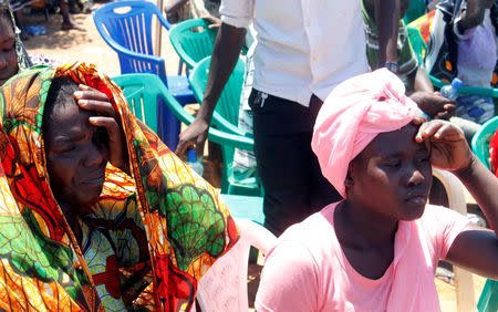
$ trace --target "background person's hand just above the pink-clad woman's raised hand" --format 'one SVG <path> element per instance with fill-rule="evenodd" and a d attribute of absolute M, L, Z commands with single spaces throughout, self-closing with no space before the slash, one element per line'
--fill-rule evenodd
<path fill-rule="evenodd" d="M 414 92 L 409 98 L 434 119 L 449 119 L 455 114 L 455 103 L 440 96 L 438 92 Z"/>

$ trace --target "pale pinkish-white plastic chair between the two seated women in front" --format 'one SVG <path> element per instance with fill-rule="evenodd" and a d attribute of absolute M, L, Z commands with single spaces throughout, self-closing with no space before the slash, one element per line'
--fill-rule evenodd
<path fill-rule="evenodd" d="M 249 249 L 253 246 L 266 254 L 277 243 L 277 238 L 256 222 L 236 218 L 236 223 L 239 241 L 199 281 L 197 300 L 201 311 L 248 311 Z"/>

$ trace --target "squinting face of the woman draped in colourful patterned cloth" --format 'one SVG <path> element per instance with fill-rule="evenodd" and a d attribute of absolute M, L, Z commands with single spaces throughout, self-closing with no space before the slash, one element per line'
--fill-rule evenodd
<path fill-rule="evenodd" d="M 108 158 L 106 132 L 90 124 L 94 112 L 74 100 L 55 104 L 44 132 L 50 186 L 55 199 L 86 206 L 102 193 Z"/>

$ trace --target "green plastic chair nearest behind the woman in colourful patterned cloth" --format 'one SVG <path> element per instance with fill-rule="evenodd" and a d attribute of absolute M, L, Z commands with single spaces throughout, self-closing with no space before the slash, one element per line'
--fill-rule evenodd
<path fill-rule="evenodd" d="M 154 74 L 124 74 L 114 77 L 113 81 L 123 90 L 133 114 L 155 132 L 157 131 L 158 103 L 167 105 L 175 116 L 187 125 L 195 119 L 169 93 L 160 79 Z M 252 149 L 253 147 L 253 141 L 250 137 L 226 133 L 212 127 L 209 128 L 208 139 L 232 148 Z M 249 219 L 260 225 L 264 222 L 262 198 L 232 195 L 222 198 L 226 199 L 234 217 Z"/>

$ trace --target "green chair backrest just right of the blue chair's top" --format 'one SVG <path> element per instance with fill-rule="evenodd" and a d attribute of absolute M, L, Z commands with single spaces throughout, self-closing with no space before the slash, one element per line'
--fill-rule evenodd
<path fill-rule="evenodd" d="M 204 19 L 185 20 L 169 31 L 169 40 L 179 58 L 189 69 L 206 56 L 211 55 L 217 29 L 210 29 Z"/>

